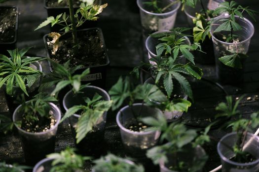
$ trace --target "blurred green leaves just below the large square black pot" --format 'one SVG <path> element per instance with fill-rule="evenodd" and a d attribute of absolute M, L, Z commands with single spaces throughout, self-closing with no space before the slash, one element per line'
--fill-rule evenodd
<path fill-rule="evenodd" d="M 51 92 L 51 95 L 58 95 L 59 91 L 66 86 L 71 86 L 74 93 L 78 92 L 84 86 L 81 86 L 81 80 L 90 73 L 89 68 L 85 69 L 81 74 L 75 74 L 76 70 L 82 68 L 82 65 L 70 67 L 70 60 L 64 65 L 51 61 L 53 72 L 43 79 L 39 90 L 44 90 L 53 85 L 56 85 L 55 89 Z"/>

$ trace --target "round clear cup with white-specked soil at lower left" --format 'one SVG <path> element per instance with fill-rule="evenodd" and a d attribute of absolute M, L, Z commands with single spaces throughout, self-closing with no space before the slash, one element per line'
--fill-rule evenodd
<path fill-rule="evenodd" d="M 28 101 L 26 104 L 29 105 L 30 103 Z M 38 112 L 34 116 L 28 117 L 23 110 L 23 106 L 18 106 L 14 111 L 13 121 L 22 141 L 25 161 L 28 165 L 35 165 L 47 154 L 54 152 L 61 113 L 56 105 L 48 103 L 49 111 L 44 117 Z M 33 110 L 30 109 L 30 111 Z M 38 118 L 39 120 L 32 122 L 33 120 L 28 120 L 29 118 Z"/>

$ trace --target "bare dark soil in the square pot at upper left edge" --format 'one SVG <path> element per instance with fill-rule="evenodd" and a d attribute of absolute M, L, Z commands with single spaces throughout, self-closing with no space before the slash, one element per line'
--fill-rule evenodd
<path fill-rule="evenodd" d="M 0 8 L 0 43 L 14 41 L 16 15 L 16 8 Z"/>

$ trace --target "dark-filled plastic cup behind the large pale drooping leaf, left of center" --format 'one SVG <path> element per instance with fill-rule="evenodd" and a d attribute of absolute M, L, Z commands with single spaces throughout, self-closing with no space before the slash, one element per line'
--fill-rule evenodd
<path fill-rule="evenodd" d="M 80 93 L 77 94 L 74 94 L 72 90 L 69 91 L 63 99 L 63 106 L 67 111 L 69 108 L 75 105 L 85 104 L 83 98 L 89 97 L 90 99 L 92 99 L 95 93 L 101 95 L 103 97 L 103 100 L 110 100 L 109 94 L 104 89 L 97 86 L 86 86 L 83 90 L 81 90 Z M 88 156 L 90 155 L 94 157 L 99 157 L 105 151 L 104 134 L 107 112 L 105 112 L 103 116 L 98 120 L 97 124 L 93 127 L 93 130 L 87 133 L 86 137 L 80 143 L 76 143 L 75 126 L 79 117 L 80 115 L 74 114 L 69 118 L 72 134 L 74 137 L 74 143 L 76 148 L 78 149 L 78 153 Z"/>

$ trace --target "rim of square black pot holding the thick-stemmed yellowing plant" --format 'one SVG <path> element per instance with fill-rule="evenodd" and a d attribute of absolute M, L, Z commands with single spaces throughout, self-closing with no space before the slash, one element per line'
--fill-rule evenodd
<path fill-rule="evenodd" d="M 97 28 L 97 27 L 96 27 L 96 28 L 80 29 L 80 30 L 77 30 L 77 32 L 78 32 L 78 31 L 93 30 L 93 29 L 99 30 L 100 39 L 102 40 L 102 43 L 103 43 L 103 49 L 104 49 L 104 52 L 105 52 L 105 55 L 106 55 L 107 62 L 106 62 L 106 64 L 86 66 L 86 67 L 83 67 L 83 68 L 81 68 L 81 69 L 108 66 L 108 65 L 110 64 L 110 58 L 108 57 L 107 48 L 106 48 L 106 44 L 105 44 L 105 40 L 104 40 L 104 35 L 103 35 L 103 31 L 102 31 L 101 28 Z M 46 41 L 46 37 L 47 37 L 47 36 L 48 36 L 48 34 L 45 34 L 45 35 L 43 36 L 43 41 L 44 41 L 44 45 L 45 45 L 45 50 L 46 50 L 47 57 L 50 59 L 49 52 L 48 52 L 47 41 Z M 48 63 L 49 63 L 50 71 L 52 72 L 53 69 L 52 69 L 52 67 L 51 67 L 51 62 L 50 62 L 49 60 L 48 60 Z"/>

